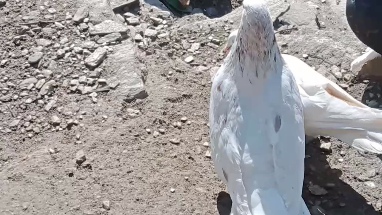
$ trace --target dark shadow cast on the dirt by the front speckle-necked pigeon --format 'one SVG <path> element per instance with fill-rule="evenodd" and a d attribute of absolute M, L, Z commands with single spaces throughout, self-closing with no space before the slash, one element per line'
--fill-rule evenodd
<path fill-rule="evenodd" d="M 381 214 L 367 204 L 362 195 L 340 179 L 341 170 L 329 166 L 327 156 L 320 149 L 318 138 L 306 145 L 306 155 L 303 199 L 312 215 Z M 308 189 L 309 184 L 324 187 L 328 193 L 312 195 Z M 231 204 L 230 196 L 224 191 L 220 192 L 217 197 L 219 214 L 229 215 Z M 317 208 L 323 213 L 319 212 Z"/>

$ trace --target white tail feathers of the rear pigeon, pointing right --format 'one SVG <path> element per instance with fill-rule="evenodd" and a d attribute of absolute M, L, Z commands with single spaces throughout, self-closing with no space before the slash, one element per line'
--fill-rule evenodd
<path fill-rule="evenodd" d="M 306 133 L 332 136 L 357 150 L 382 154 L 382 112 L 344 105 L 327 106 L 322 115 L 306 114 Z"/>

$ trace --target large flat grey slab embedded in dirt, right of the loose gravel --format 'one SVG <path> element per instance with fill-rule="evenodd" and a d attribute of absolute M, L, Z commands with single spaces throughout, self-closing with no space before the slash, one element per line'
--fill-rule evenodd
<path fill-rule="evenodd" d="M 146 98 L 148 94 L 136 59 L 137 47 L 131 41 L 126 41 L 113 48 L 115 52 L 108 57 L 107 62 L 114 75 L 108 82 L 119 81 L 119 86 L 112 93 L 121 100 L 120 102 Z"/>

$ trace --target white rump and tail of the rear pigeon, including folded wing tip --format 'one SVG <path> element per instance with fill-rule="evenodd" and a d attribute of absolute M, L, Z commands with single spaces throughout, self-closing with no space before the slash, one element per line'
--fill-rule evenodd
<path fill-rule="evenodd" d="M 349 96 L 330 83 L 322 93 L 303 96 L 309 106 L 304 108 L 306 134 L 332 136 L 357 150 L 381 154 L 382 111 Z"/>

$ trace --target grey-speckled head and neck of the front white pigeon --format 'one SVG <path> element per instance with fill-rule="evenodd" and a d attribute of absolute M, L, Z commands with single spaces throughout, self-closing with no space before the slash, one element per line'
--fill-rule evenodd
<path fill-rule="evenodd" d="M 236 66 L 240 68 L 242 77 L 245 75 L 244 67 L 248 67 L 255 68 L 256 78 L 265 78 L 272 70 L 280 70 L 283 63 L 272 19 L 264 0 L 244 0 L 243 8 L 241 23 L 227 55 L 227 62 L 238 62 Z"/>

